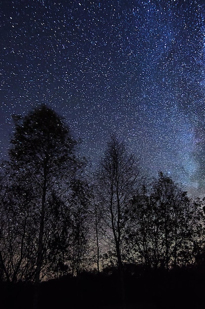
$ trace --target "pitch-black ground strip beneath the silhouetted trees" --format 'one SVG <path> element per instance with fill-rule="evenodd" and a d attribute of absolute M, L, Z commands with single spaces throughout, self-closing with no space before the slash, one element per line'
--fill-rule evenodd
<path fill-rule="evenodd" d="M 126 309 L 205 308 L 205 270 L 138 271 L 125 276 Z M 33 309 L 32 284 L 0 284 L 0 309 Z M 123 309 L 115 274 L 83 273 L 42 282 L 36 309 Z"/>

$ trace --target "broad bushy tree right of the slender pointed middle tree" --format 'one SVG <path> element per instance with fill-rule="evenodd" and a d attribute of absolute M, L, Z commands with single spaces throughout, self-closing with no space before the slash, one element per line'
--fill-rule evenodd
<path fill-rule="evenodd" d="M 194 236 L 202 218 L 200 204 L 170 177 L 159 173 L 149 193 L 133 197 L 130 209 L 128 240 L 147 266 L 168 269 L 191 262 Z"/>

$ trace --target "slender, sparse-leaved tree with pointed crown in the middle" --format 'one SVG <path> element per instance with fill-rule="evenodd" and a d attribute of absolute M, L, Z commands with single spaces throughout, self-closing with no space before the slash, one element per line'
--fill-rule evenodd
<path fill-rule="evenodd" d="M 111 244 L 114 244 L 124 301 L 123 249 L 125 227 L 128 224 L 126 213 L 128 201 L 138 186 L 139 169 L 134 155 L 127 152 L 123 142 L 120 142 L 115 135 L 111 135 L 107 144 L 104 158 L 100 163 L 98 181 L 98 192 L 107 225 L 106 236 Z"/>

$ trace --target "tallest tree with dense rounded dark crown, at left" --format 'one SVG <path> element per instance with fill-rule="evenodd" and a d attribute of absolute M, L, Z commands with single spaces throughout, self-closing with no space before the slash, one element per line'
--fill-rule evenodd
<path fill-rule="evenodd" d="M 41 278 L 41 270 L 47 253 L 52 222 L 51 195 L 68 189 L 70 180 L 80 166 L 75 156 L 76 141 L 62 117 L 45 105 L 34 109 L 27 116 L 15 117 L 15 132 L 11 139 L 9 162 L 16 176 L 19 191 L 32 188 L 34 217 L 37 233 L 35 281 Z M 51 216 L 52 218 L 52 216 Z"/>

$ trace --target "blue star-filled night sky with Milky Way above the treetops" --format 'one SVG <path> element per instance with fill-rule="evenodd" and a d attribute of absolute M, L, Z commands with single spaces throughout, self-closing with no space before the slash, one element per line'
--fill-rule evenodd
<path fill-rule="evenodd" d="M 0 2 L 0 152 L 12 115 L 64 116 L 95 165 L 111 132 L 151 175 L 205 187 L 205 1 Z"/>

